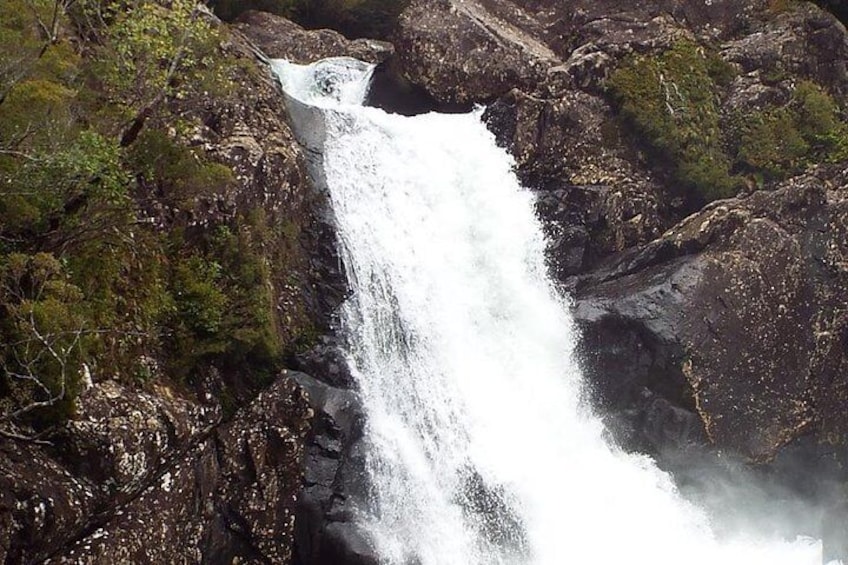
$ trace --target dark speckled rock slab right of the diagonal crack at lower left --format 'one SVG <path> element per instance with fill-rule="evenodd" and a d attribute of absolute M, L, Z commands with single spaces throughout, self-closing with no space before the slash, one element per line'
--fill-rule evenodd
<path fill-rule="evenodd" d="M 310 418 L 300 387 L 280 377 L 169 458 L 147 453 L 164 459 L 151 478 L 103 501 L 48 562 L 289 562 Z"/>

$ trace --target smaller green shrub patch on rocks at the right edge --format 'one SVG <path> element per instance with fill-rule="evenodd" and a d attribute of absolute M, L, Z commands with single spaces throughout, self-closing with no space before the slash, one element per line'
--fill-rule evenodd
<path fill-rule="evenodd" d="M 819 162 L 848 158 L 848 124 L 833 98 L 801 81 L 784 106 L 739 119 L 736 159 L 765 179 L 785 178 Z"/>

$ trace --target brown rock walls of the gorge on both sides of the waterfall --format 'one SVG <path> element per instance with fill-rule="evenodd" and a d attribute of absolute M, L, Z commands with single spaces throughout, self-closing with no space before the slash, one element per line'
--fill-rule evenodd
<path fill-rule="evenodd" d="M 162 199 L 150 217 L 202 231 L 262 208 L 297 225 L 286 271 L 264 284 L 279 334 L 309 339 L 270 385 L 233 387 L 229 366 L 188 386 L 95 375 L 67 421 L 5 433 L 5 562 L 377 562 L 352 524 L 363 422 L 332 332 L 348 293 L 332 215 L 265 66 L 339 55 L 378 64 L 375 106 L 486 105 L 537 193 L 615 441 L 681 482 L 697 482 L 690 460 L 732 459 L 826 506 L 826 550 L 845 555 L 848 33 L 833 14 L 768 0 L 413 0 L 380 41 L 262 12 L 215 25 L 239 61 L 233 94 L 171 103 L 198 117 L 181 142 L 235 181 L 201 193 L 188 219 Z"/>

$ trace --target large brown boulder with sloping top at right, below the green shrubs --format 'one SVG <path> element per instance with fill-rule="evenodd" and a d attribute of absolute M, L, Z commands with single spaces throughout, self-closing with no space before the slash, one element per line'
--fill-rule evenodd
<path fill-rule="evenodd" d="M 822 168 L 716 202 L 580 280 L 578 318 L 629 326 L 645 351 L 644 369 L 594 371 L 603 394 L 652 389 L 752 461 L 805 435 L 844 443 L 846 186 Z"/>

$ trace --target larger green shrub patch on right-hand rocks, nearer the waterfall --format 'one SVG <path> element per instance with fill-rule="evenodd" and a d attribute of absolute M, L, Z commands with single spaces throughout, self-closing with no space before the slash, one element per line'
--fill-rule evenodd
<path fill-rule="evenodd" d="M 730 174 L 719 123 L 717 81 L 732 68 L 688 40 L 658 56 L 629 58 L 607 85 L 623 117 L 663 159 L 675 176 L 706 200 L 734 194 L 740 179 Z"/>

